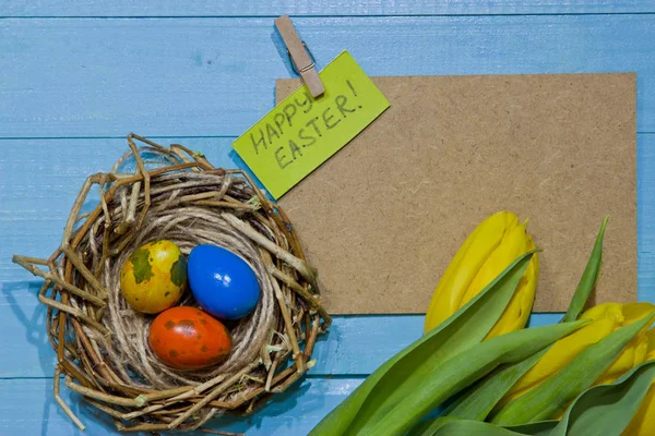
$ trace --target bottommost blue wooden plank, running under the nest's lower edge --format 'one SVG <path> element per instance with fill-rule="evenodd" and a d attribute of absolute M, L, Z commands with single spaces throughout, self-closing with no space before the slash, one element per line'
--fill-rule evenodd
<path fill-rule="evenodd" d="M 213 420 L 207 427 L 247 432 L 248 436 L 306 435 L 360 383 L 360 378 L 305 379 L 250 416 L 225 416 Z M 62 387 L 63 401 L 86 425 L 86 431 L 80 432 L 55 402 L 51 379 L 0 379 L 0 391 L 4 393 L 3 401 L 0 401 L 1 435 L 120 434 L 105 413 L 92 409 L 80 396 L 71 395 Z M 145 433 L 138 435 L 146 436 Z M 189 435 L 206 434 L 194 432 Z"/>

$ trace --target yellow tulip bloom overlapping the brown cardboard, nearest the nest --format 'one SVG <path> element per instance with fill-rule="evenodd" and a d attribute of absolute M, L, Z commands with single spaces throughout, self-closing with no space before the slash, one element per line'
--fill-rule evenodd
<path fill-rule="evenodd" d="M 432 295 L 425 331 L 464 306 L 522 254 L 535 249 L 525 223 L 510 211 L 485 219 L 460 247 Z M 515 331 L 527 323 L 535 299 L 539 261 L 535 254 L 508 307 L 486 339 Z"/>

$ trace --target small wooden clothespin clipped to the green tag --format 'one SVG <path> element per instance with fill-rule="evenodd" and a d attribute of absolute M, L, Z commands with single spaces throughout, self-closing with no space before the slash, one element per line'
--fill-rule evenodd
<path fill-rule="evenodd" d="M 296 33 L 296 28 L 288 15 L 282 15 L 275 19 L 275 27 L 287 46 L 287 53 L 291 68 L 297 74 L 300 74 L 302 81 L 309 88 L 312 97 L 318 97 L 325 92 L 323 82 L 314 69 L 314 57 Z"/>

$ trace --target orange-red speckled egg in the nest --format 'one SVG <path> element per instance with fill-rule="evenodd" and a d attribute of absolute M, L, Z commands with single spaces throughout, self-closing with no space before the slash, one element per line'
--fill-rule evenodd
<path fill-rule="evenodd" d="M 153 322 L 148 341 L 155 355 L 178 370 L 200 370 L 224 360 L 231 337 L 217 319 L 195 307 L 177 306 Z"/>

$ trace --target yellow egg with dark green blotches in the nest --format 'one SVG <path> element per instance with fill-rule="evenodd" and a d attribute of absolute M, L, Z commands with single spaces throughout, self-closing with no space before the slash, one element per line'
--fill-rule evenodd
<path fill-rule="evenodd" d="M 180 249 L 162 240 L 140 246 L 120 271 L 120 290 L 134 311 L 156 314 L 180 301 L 187 261 Z"/>

